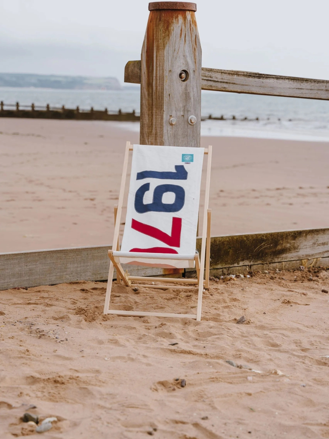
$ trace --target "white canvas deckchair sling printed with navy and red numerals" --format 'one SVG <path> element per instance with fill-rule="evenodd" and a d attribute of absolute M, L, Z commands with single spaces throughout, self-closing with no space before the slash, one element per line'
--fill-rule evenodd
<path fill-rule="evenodd" d="M 204 149 L 134 145 L 121 263 L 187 268 L 194 261 L 157 259 L 157 253 L 195 254 Z"/>

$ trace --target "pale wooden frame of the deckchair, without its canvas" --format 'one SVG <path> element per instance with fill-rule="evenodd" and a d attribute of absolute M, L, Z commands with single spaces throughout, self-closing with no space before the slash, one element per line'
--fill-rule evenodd
<path fill-rule="evenodd" d="M 119 193 L 118 205 L 114 208 L 114 236 L 113 236 L 113 245 L 112 250 L 108 251 L 109 257 L 111 259 L 110 269 L 109 269 L 109 277 L 106 289 L 106 297 L 104 304 L 104 314 L 117 314 L 124 316 L 158 316 L 158 317 L 185 317 L 196 319 L 197 321 L 201 320 L 201 307 L 202 307 L 202 293 L 204 288 L 209 288 L 209 268 L 210 268 L 210 228 L 211 228 L 211 210 L 208 209 L 209 205 L 209 191 L 210 191 L 210 169 L 211 169 L 211 153 L 212 147 L 204 149 L 204 154 L 207 155 L 207 170 L 206 170 L 206 183 L 205 183 L 205 196 L 204 196 L 204 208 L 203 208 L 203 223 L 202 223 L 202 234 L 201 234 L 201 254 L 199 257 L 198 252 L 195 252 L 194 257 L 189 257 L 188 259 L 195 261 L 195 269 L 197 278 L 196 279 L 188 279 L 188 278 L 169 278 L 169 277 L 141 277 L 141 276 L 130 276 L 129 273 L 125 272 L 121 266 L 121 263 L 115 259 L 115 254 L 119 250 L 119 229 L 120 229 L 120 221 L 122 215 L 122 206 L 125 195 L 125 186 L 127 179 L 127 171 L 128 171 L 128 161 L 129 161 L 129 152 L 134 150 L 134 146 L 131 145 L 130 142 L 126 144 L 123 172 L 121 178 L 121 186 Z M 153 253 L 155 259 L 181 259 L 181 255 L 174 254 L 159 254 Z M 145 257 L 148 259 L 152 258 L 152 253 L 139 253 L 138 257 Z M 184 260 L 187 260 L 184 259 Z M 137 287 L 141 286 L 143 288 L 162 288 L 166 289 L 169 285 L 164 284 L 132 284 L 132 281 L 152 281 L 152 282 L 162 282 L 162 283 L 173 283 L 175 284 L 175 288 L 180 289 L 191 289 L 197 288 L 198 298 L 197 298 L 197 307 L 196 314 L 175 314 L 175 313 L 165 313 L 165 312 L 150 312 L 150 311 L 124 311 L 124 310 L 115 310 L 109 309 L 110 300 L 111 300 L 111 291 L 113 284 L 113 274 L 114 268 L 117 271 L 117 282 L 121 283 L 121 279 L 124 284 L 129 287 Z M 205 269 L 205 279 L 204 279 L 204 269 Z M 188 285 L 181 285 L 189 284 Z M 195 285 L 195 286 L 194 286 Z"/>

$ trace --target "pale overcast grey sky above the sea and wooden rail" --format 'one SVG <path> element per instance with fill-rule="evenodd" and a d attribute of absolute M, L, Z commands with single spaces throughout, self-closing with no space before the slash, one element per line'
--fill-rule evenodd
<path fill-rule="evenodd" d="M 0 0 L 0 72 L 116 76 L 147 0 Z M 329 0 L 199 0 L 202 66 L 329 80 Z"/>

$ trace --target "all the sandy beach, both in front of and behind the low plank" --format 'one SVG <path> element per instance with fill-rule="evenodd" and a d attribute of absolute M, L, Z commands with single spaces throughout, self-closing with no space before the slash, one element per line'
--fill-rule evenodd
<path fill-rule="evenodd" d="M 112 123 L 0 119 L 0 252 L 110 244 L 126 140 Z M 328 226 L 328 143 L 208 144 L 212 235 Z M 49 439 L 329 438 L 329 270 L 250 276 L 213 279 L 201 322 L 104 316 L 106 282 L 1 291 L 0 437 L 39 437 L 29 412 L 57 418 Z M 112 299 L 196 308 L 173 287 Z"/>

